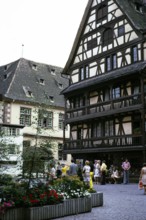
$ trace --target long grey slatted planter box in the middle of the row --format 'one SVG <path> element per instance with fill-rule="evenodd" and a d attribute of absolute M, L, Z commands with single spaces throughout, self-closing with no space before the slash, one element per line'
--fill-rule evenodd
<path fill-rule="evenodd" d="M 61 204 L 25 209 L 27 220 L 48 220 L 82 212 L 91 212 L 91 198 L 68 199 Z"/>

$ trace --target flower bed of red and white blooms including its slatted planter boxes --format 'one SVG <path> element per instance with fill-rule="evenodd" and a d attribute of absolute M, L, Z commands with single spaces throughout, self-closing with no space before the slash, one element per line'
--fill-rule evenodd
<path fill-rule="evenodd" d="M 3 197 L 5 202 L 0 204 L 4 210 L 0 220 L 47 220 L 90 212 L 92 207 L 103 205 L 103 193 L 90 192 L 75 178 L 64 178 L 56 181 L 56 185 L 29 190 L 7 188 L 4 193 L 7 197 Z"/>

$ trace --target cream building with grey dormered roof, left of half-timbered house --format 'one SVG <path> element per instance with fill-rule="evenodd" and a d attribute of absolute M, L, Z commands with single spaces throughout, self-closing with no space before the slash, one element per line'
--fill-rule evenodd
<path fill-rule="evenodd" d="M 69 127 L 64 130 L 65 104 L 60 92 L 68 86 L 68 79 L 61 71 L 24 58 L 1 66 L 0 123 L 9 130 L 13 125 L 23 127 L 23 149 L 49 141 L 56 160 L 70 161 L 62 151 L 63 133 L 69 137 Z"/>

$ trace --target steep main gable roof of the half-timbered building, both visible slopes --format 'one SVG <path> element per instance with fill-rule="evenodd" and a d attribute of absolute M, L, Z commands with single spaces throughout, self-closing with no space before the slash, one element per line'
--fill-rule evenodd
<path fill-rule="evenodd" d="M 114 1 L 123 11 L 123 13 L 125 13 L 125 15 L 128 17 L 129 21 L 132 23 L 135 29 L 137 29 L 141 33 L 146 33 L 146 1 L 145 0 L 114 0 Z M 135 9 L 135 2 L 143 4 L 144 13 L 141 13 Z M 144 5 L 144 2 L 145 2 L 145 5 Z M 90 12 L 91 5 L 92 5 L 92 0 L 89 0 L 85 8 L 81 23 L 79 25 L 77 35 L 74 40 L 69 58 L 62 71 L 63 74 L 69 74 L 69 68 L 72 65 L 73 58 L 77 50 L 78 42 L 80 40 L 80 37 L 82 36 L 82 32 L 84 30 L 84 26 L 86 24 L 87 16 Z"/>

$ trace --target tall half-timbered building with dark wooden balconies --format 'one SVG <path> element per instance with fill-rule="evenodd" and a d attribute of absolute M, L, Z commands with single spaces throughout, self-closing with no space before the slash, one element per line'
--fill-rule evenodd
<path fill-rule="evenodd" d="M 89 0 L 63 74 L 64 152 L 135 168 L 146 160 L 146 1 Z"/>

